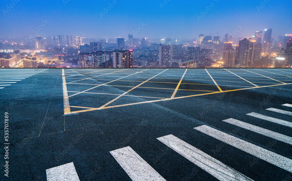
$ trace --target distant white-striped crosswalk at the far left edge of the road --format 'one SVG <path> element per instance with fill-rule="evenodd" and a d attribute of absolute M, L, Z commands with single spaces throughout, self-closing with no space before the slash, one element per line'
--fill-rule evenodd
<path fill-rule="evenodd" d="M 0 89 L 4 89 L 4 86 L 17 83 L 14 81 L 21 81 L 36 74 L 42 73 L 48 69 L 0 69 Z M 2 85 L 2 84 L 6 85 Z"/>

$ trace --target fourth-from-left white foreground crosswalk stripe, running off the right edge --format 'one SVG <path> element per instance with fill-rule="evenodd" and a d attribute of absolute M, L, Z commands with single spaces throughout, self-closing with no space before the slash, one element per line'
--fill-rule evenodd
<path fill-rule="evenodd" d="M 277 153 L 271 152 L 206 125 L 199 126 L 194 129 L 292 173 L 292 160 L 289 158 L 283 157 Z"/>

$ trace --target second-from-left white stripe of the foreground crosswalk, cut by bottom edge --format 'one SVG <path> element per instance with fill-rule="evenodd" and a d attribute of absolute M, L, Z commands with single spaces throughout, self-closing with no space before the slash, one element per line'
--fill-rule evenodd
<path fill-rule="evenodd" d="M 130 146 L 109 152 L 133 181 L 166 181 Z"/>

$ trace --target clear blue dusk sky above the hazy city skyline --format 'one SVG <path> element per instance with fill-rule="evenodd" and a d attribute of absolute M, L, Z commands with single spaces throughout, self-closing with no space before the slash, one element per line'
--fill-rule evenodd
<path fill-rule="evenodd" d="M 17 3 L 7 11 L 7 5 L 12 1 Z M 143 22 L 146 25 L 136 37 L 181 35 L 190 39 L 198 38 L 201 33 L 211 33 L 213 36 L 219 33 L 223 37 L 225 33 L 235 31 L 237 26 L 243 28 L 236 37 L 252 36 L 255 31 L 264 31 L 266 28 L 273 29 L 273 36 L 292 34 L 291 0 L 12 1 L 1 1 L 0 37 L 27 37 L 34 34 L 33 29 L 41 25 L 43 19 L 49 21 L 38 33 L 44 37 L 78 36 L 80 32 L 92 38 L 127 37 Z M 116 4 L 109 8 L 109 3 Z M 209 10 L 206 6 L 209 6 Z M 104 8 L 111 10 L 101 17 Z M 201 11 L 207 13 L 201 16 Z M 199 21 L 198 16 L 202 17 Z"/>

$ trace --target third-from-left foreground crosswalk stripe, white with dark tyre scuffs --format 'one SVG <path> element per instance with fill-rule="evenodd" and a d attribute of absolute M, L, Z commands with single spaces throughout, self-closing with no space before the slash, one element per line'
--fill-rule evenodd
<path fill-rule="evenodd" d="M 169 148 L 175 150 L 177 153 L 190 160 L 201 169 L 205 170 L 209 174 L 221 181 L 244 181 L 252 179 L 225 165 L 224 163 L 216 160 L 215 158 L 207 155 L 203 151 L 195 148 L 194 146 L 186 143 L 185 141 L 173 136 L 167 135 L 157 138 Z"/>

